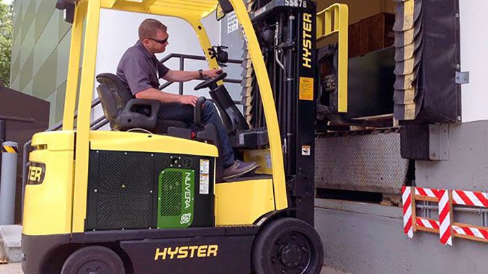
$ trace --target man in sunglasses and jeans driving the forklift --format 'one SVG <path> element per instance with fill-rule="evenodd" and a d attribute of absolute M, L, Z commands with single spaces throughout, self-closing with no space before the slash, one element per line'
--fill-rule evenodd
<path fill-rule="evenodd" d="M 194 107 L 198 97 L 194 95 L 174 95 L 159 90 L 159 78 L 169 82 L 187 82 L 201 77 L 216 77 L 222 70 L 208 71 L 172 71 L 157 60 L 154 53 L 165 51 L 169 35 L 163 23 L 146 19 L 139 26 L 139 40 L 127 49 L 122 56 L 117 75 L 125 82 L 138 99 L 154 99 L 161 102 L 159 116 L 167 120 L 176 120 L 194 125 Z M 222 157 L 224 162 L 224 179 L 231 179 L 249 173 L 257 168 L 255 162 L 235 160 L 234 153 L 226 134 L 224 125 L 216 111 L 216 107 L 209 101 L 202 108 L 203 123 L 213 123 L 218 129 L 222 143 Z"/>

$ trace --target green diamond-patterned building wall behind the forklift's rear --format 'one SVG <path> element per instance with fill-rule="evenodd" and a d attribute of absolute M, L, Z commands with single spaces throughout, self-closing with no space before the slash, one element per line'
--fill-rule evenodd
<path fill-rule="evenodd" d="M 52 0 L 14 1 L 10 87 L 49 101 L 50 125 L 62 118 L 70 28 Z"/>

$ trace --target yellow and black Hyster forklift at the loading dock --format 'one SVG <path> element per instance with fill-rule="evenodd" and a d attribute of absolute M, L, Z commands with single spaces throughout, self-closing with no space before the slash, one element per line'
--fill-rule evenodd
<path fill-rule="evenodd" d="M 315 4 L 61 3 L 73 23 L 64 118 L 61 131 L 32 139 L 24 273 L 320 273 L 323 245 L 313 227 Z M 201 127 L 191 132 L 157 119 L 159 103 L 132 98 L 115 75 L 94 77 L 102 8 L 183 19 L 209 68 L 224 60 L 210 50 L 201 20 L 215 10 L 220 18 L 235 12 L 246 42 L 244 114 L 222 83 L 225 73 L 196 89 L 210 88 L 233 147 L 259 162 L 255 174 L 222 179 L 218 134 L 200 123 L 205 98 L 195 108 Z M 90 128 L 95 79 L 113 131 Z"/>

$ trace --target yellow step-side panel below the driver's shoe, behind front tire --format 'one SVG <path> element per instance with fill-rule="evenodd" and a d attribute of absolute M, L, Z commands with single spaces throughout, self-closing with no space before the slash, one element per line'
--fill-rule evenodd
<path fill-rule="evenodd" d="M 274 210 L 271 179 L 216 184 L 217 225 L 252 225 Z"/>

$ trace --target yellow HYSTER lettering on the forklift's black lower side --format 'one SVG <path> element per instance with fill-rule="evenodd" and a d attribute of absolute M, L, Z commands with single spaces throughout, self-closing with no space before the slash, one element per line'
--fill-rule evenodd
<path fill-rule="evenodd" d="M 164 247 L 156 248 L 154 260 L 186 259 L 186 258 L 209 258 L 217 257 L 218 245 L 193 245 L 189 247 Z"/>

